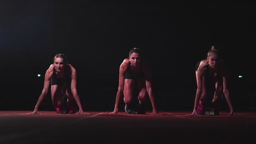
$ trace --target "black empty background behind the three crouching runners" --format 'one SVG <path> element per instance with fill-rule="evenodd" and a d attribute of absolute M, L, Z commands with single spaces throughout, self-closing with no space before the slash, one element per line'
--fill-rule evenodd
<path fill-rule="evenodd" d="M 255 110 L 255 12 L 253 4 L 1 2 L 0 108 L 32 111 L 46 69 L 64 53 L 77 69 L 84 111 L 112 111 L 119 65 L 137 47 L 152 66 L 158 109 L 193 110 L 195 64 L 214 45 L 228 64 L 235 110 Z M 54 110 L 50 94 L 40 110 Z"/>

